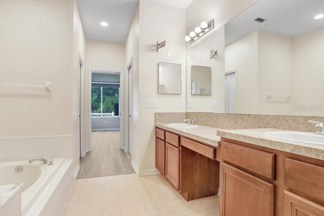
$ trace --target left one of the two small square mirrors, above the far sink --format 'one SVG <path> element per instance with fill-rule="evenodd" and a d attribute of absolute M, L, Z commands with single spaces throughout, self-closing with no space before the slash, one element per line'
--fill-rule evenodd
<path fill-rule="evenodd" d="M 181 64 L 158 63 L 158 94 L 181 94 Z"/>

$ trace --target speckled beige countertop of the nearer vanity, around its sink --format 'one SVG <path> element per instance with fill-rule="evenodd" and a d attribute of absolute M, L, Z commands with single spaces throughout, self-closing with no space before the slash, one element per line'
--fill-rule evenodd
<path fill-rule="evenodd" d="M 217 136 L 231 140 L 254 144 L 266 148 L 290 152 L 306 157 L 324 160 L 324 145 L 313 145 L 295 143 L 289 141 L 279 141 L 263 135 L 268 131 L 286 131 L 277 128 L 255 128 L 255 129 L 218 129 Z"/>

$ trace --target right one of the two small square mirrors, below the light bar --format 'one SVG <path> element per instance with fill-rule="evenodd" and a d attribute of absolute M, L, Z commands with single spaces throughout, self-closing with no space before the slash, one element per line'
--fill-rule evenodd
<path fill-rule="evenodd" d="M 191 65 L 191 94 L 212 94 L 212 68 Z"/>

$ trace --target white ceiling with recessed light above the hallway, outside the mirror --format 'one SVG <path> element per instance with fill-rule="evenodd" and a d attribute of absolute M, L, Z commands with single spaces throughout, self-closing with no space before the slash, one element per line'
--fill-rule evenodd
<path fill-rule="evenodd" d="M 186 9 L 193 0 L 146 0 Z M 124 43 L 135 15 L 138 0 L 76 0 L 88 40 Z M 100 22 L 107 22 L 103 27 Z"/>

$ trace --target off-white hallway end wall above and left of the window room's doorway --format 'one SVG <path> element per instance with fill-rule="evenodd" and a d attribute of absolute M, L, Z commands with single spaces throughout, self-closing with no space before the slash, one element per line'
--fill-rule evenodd
<path fill-rule="evenodd" d="M 85 62 L 85 148 L 89 140 L 89 69 L 125 71 L 125 44 L 86 40 Z"/>

